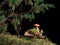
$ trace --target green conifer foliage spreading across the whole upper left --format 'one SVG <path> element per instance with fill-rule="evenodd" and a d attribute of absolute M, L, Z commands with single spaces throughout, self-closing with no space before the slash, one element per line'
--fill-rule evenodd
<path fill-rule="evenodd" d="M 25 4 L 25 6 L 28 6 L 28 5 L 31 6 L 31 10 L 29 10 L 27 13 L 25 13 L 23 11 L 23 7 L 22 7 L 23 1 L 25 2 L 25 3 L 23 3 L 23 4 Z M 12 12 L 8 13 L 9 10 L 8 10 L 8 12 L 6 12 L 6 10 L 4 11 L 3 8 L 0 7 L 0 15 L 1 15 L 0 23 L 2 23 L 4 25 L 4 26 L 0 26 L 0 30 L 2 30 L 2 31 L 7 30 L 7 24 L 5 25 L 5 22 L 6 22 L 6 20 L 9 20 L 8 18 L 10 18 L 10 17 L 12 17 L 12 19 L 10 20 L 11 24 L 14 26 L 15 30 L 18 30 L 17 29 L 18 25 L 21 25 L 21 21 L 23 20 L 23 18 L 29 19 L 29 21 L 31 22 L 32 19 L 35 18 L 34 17 L 35 13 L 36 14 L 40 13 L 40 12 L 44 13 L 45 10 L 48 10 L 49 8 L 54 8 L 53 4 L 44 3 L 44 0 L 7 0 L 6 2 L 9 5 L 9 9 L 11 9 Z M 19 11 L 15 12 L 15 8 L 17 8 L 20 5 L 21 5 L 21 7 L 19 9 L 21 12 L 17 14 L 17 12 L 19 12 Z M 7 13 L 6 17 L 5 17 L 5 15 L 6 15 L 5 13 Z"/>

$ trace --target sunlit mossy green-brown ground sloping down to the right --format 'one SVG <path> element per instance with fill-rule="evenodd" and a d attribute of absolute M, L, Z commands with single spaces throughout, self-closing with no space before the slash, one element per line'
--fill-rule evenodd
<path fill-rule="evenodd" d="M 0 45 L 57 45 L 46 39 L 34 39 L 20 37 L 10 34 L 0 34 Z"/>

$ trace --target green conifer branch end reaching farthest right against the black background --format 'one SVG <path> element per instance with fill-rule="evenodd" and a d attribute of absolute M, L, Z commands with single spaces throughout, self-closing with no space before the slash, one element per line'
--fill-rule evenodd
<path fill-rule="evenodd" d="M 36 6 L 35 7 L 35 10 L 34 12 L 35 13 L 40 13 L 40 12 L 45 12 L 45 10 L 48 10 L 49 8 L 54 8 L 54 5 L 53 4 L 40 4 L 39 6 Z"/>

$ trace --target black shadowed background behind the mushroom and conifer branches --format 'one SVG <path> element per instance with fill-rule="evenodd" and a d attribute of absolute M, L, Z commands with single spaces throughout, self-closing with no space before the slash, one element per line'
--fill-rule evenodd
<path fill-rule="evenodd" d="M 1 1 L 0 1 L 1 2 Z M 32 21 L 32 22 L 29 22 L 29 20 L 23 20 L 22 21 L 22 31 L 21 31 L 21 35 L 23 35 L 23 33 L 32 27 L 32 25 L 34 23 L 38 23 L 41 25 L 41 29 L 44 30 L 44 33 L 45 35 L 47 35 L 47 37 L 52 41 L 52 42 L 55 42 L 57 43 L 58 45 L 60 44 L 60 13 L 59 13 L 59 1 L 58 0 L 45 0 L 45 2 L 48 2 L 48 3 L 51 3 L 51 4 L 54 4 L 55 5 L 55 8 L 51 8 L 49 9 L 48 11 L 46 11 L 45 13 L 40 13 L 40 14 L 35 14 L 35 19 Z M 8 9 L 6 8 L 7 5 L 5 5 L 3 7 L 3 9 Z M 26 7 L 26 6 L 25 6 Z M 29 10 L 30 6 L 27 6 L 26 8 L 26 11 Z M 19 8 L 19 7 L 18 7 Z M 18 10 L 18 9 L 16 9 Z M 14 34 L 15 32 L 12 31 L 13 29 L 11 28 L 13 26 L 9 25 L 8 29 L 10 30 L 10 33 L 11 34 Z M 13 33 L 14 32 L 14 33 Z"/>

